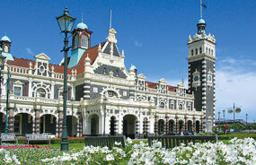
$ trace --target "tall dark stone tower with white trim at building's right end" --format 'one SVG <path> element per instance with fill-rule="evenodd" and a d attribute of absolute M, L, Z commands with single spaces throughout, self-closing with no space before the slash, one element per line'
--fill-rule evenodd
<path fill-rule="evenodd" d="M 201 118 L 201 131 L 212 132 L 215 126 L 215 62 L 216 39 L 206 34 L 206 22 L 201 18 L 197 24 L 198 32 L 189 36 L 189 92 L 194 93 L 194 108 L 205 111 Z"/>

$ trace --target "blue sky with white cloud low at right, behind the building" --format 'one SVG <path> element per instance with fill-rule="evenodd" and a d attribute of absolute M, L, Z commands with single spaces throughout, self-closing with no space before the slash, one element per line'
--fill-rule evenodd
<path fill-rule="evenodd" d="M 256 119 L 256 1 L 203 0 L 207 34 L 216 37 L 216 118 L 218 111 L 235 106 L 242 112 L 235 118 Z M 125 51 L 125 64 L 136 65 L 138 74 L 168 84 L 188 81 L 187 39 L 197 32 L 199 0 L 0 0 L 0 36 L 12 40 L 15 57 L 34 59 L 45 53 L 50 63 L 63 58 L 63 34 L 56 17 L 67 7 L 93 31 L 92 46 L 105 41 L 110 27 L 117 30 L 119 51 Z M 69 38 L 71 40 L 71 38 Z M 223 117 L 223 113 L 221 113 Z M 233 118 L 226 114 L 225 118 Z"/>

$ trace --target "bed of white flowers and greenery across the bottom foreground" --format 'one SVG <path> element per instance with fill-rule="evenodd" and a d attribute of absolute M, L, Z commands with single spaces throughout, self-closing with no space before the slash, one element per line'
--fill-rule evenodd
<path fill-rule="evenodd" d="M 120 143 L 115 143 L 119 145 Z M 45 148 L 0 149 L 0 162 L 13 164 L 256 164 L 256 142 L 252 138 L 232 139 L 228 144 L 190 143 L 172 149 L 154 142 L 132 144 L 126 148 L 87 146 L 83 150 L 60 152 Z"/>

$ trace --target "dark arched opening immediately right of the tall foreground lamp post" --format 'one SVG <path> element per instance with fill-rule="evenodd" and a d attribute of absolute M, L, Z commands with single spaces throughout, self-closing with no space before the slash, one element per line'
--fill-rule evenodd
<path fill-rule="evenodd" d="M 77 123 L 78 123 L 78 117 L 76 117 L 75 115 L 66 116 L 66 128 L 67 128 L 68 136 L 74 137 L 77 135 Z"/>

